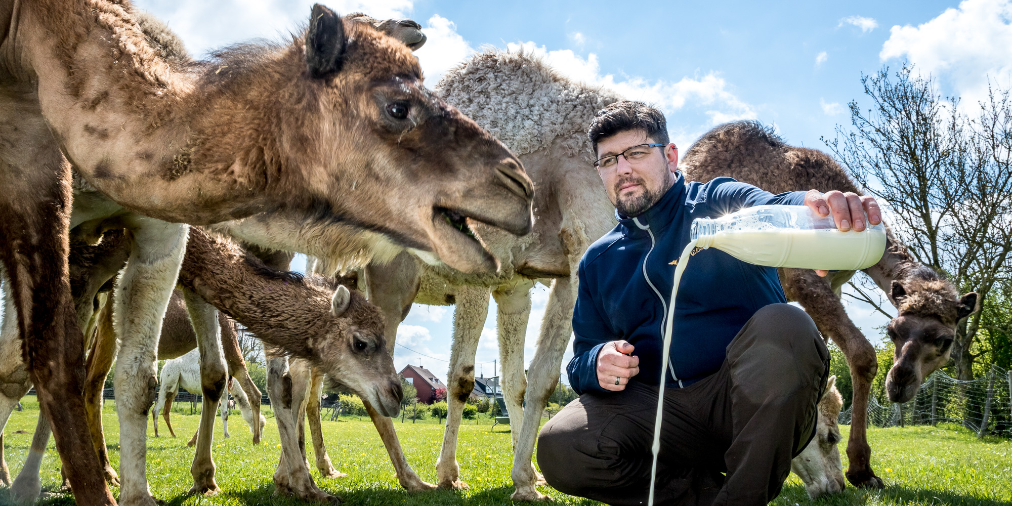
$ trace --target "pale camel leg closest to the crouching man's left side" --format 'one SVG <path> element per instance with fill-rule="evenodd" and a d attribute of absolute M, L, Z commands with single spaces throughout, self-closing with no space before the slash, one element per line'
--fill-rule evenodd
<path fill-rule="evenodd" d="M 540 335 L 537 336 L 537 350 L 527 369 L 527 406 L 523 410 L 523 423 L 513 449 L 513 485 L 516 492 L 514 501 L 546 500 L 534 486 L 537 475 L 531 463 L 534 454 L 534 440 L 541 425 L 541 412 L 549 402 L 549 396 L 559 382 L 559 367 L 562 364 L 566 345 L 573 333 L 573 305 L 576 304 L 576 265 L 572 266 L 572 277 L 561 277 L 552 285 L 549 304 L 544 308 Z M 510 430 L 517 430 L 510 423 Z"/>

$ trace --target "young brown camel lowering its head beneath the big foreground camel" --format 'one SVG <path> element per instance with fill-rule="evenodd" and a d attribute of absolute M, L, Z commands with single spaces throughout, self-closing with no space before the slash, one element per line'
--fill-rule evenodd
<path fill-rule="evenodd" d="M 327 284 L 334 281 L 323 277 L 271 269 L 249 252 L 196 228 L 190 232 L 179 280 L 271 345 L 269 356 L 306 360 L 357 393 L 383 416 L 400 410 L 401 384 L 387 352 L 383 318 L 357 291 Z M 287 303 L 292 300 L 302 303 Z M 305 448 L 299 449 L 296 416 L 304 413 L 305 389 L 293 387 L 291 376 L 282 374 L 282 381 L 268 385 L 268 391 L 286 443 L 274 474 L 275 493 L 331 499 L 316 487 L 306 467 Z"/>

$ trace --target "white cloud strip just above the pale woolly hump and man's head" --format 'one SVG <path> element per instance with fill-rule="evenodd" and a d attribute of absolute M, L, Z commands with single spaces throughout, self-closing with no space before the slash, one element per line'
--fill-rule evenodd
<path fill-rule="evenodd" d="M 708 106 L 706 114 L 710 123 L 716 124 L 733 119 L 753 119 L 756 116 L 751 105 L 739 99 L 727 81 L 715 72 L 702 76 L 683 77 L 677 82 L 664 79 L 649 81 L 637 76 L 616 78 L 614 74 L 601 74 L 597 55 L 591 53 L 586 59 L 570 50 L 549 51 L 533 41 L 509 43 L 509 51 L 520 51 L 540 56 L 553 68 L 571 79 L 594 86 L 610 88 L 635 100 L 655 104 L 669 114 L 685 107 Z"/>

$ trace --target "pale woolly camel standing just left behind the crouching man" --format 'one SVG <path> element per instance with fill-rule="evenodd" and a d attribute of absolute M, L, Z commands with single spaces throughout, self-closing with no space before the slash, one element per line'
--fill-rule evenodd
<path fill-rule="evenodd" d="M 591 166 L 586 124 L 597 110 L 619 97 L 573 83 L 537 58 L 501 51 L 476 55 L 450 70 L 436 90 L 520 156 L 537 188 L 534 230 L 518 238 L 480 224 L 472 227 L 501 263 L 497 274 L 465 273 L 424 252 L 415 253 L 427 263 L 402 253 L 391 263 L 370 264 L 364 269 L 369 301 L 383 309 L 391 353 L 397 327 L 413 302 L 456 306 L 447 380 L 448 414 L 436 469 L 440 487 L 465 489 L 468 486 L 459 479 L 455 456 L 457 430 L 465 400 L 474 390 L 475 353 L 489 296 L 495 298 L 503 395 L 513 419 L 516 492 L 512 498 L 544 499 L 534 488 L 539 477 L 531 456 L 540 412 L 559 380 L 572 333 L 576 266 L 586 248 L 615 225 L 614 208 Z M 325 272 L 354 264 L 322 263 Z M 551 283 L 552 291 L 528 384 L 523 347 L 530 288 L 537 279 Z M 319 413 L 311 414 L 311 420 L 314 417 Z M 386 422 L 373 418 L 373 423 L 380 427 Z M 388 433 L 384 443 L 400 477 L 407 463 L 392 424 Z"/>

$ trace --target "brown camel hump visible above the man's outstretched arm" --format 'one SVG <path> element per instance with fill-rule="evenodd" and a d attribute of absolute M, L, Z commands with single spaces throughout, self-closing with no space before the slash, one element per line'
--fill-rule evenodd
<path fill-rule="evenodd" d="M 756 120 L 714 126 L 692 144 L 679 167 L 687 181 L 728 176 L 773 193 L 813 188 L 861 193 L 831 156 L 790 146 L 773 126 Z"/>

